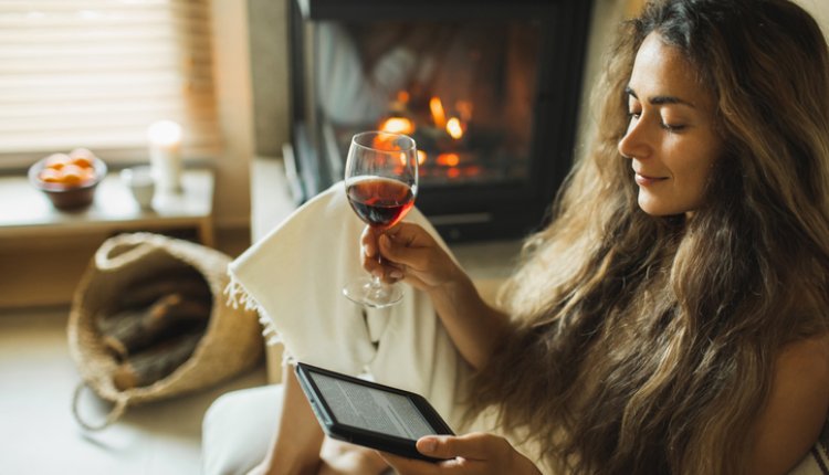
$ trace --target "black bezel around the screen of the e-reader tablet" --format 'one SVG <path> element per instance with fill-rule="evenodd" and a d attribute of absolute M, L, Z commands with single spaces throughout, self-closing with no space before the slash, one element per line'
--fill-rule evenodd
<path fill-rule="evenodd" d="M 313 372 L 317 372 L 367 388 L 374 388 L 380 391 L 401 394 L 412 401 L 412 403 L 414 403 L 414 407 L 418 409 L 423 419 L 426 419 L 429 425 L 436 430 L 437 435 L 454 435 L 445 421 L 443 421 L 440 414 L 438 414 L 438 411 L 432 408 L 432 405 L 429 403 L 429 401 L 426 400 L 426 398 L 418 393 L 385 384 L 378 384 L 372 381 L 354 378 L 347 374 L 306 365 L 303 362 L 296 363 L 295 372 L 296 379 L 300 381 L 300 387 L 305 393 L 305 397 L 308 399 L 311 408 L 314 411 L 319 425 L 323 428 L 323 432 L 325 432 L 333 439 L 363 445 L 370 448 L 376 448 L 378 451 L 388 452 L 407 458 L 418 458 L 429 462 L 439 461 L 438 458 L 428 457 L 418 452 L 416 447 L 416 440 L 398 437 L 395 435 L 384 434 L 381 432 L 369 431 L 363 428 L 356 428 L 354 425 L 337 422 L 337 419 L 330 410 L 330 407 L 319 391 L 319 388 L 316 386 L 316 381 L 314 381 L 313 377 L 309 374 Z"/>

